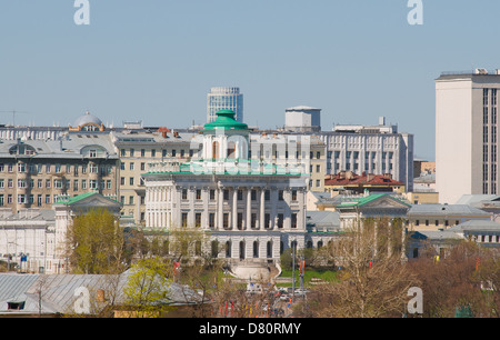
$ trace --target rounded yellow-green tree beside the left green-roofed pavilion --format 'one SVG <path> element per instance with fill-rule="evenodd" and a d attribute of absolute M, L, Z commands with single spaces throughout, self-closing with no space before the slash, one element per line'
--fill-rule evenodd
<path fill-rule="evenodd" d="M 73 273 L 116 273 L 123 270 L 123 232 L 104 209 L 78 214 L 68 227 L 67 256 Z"/>

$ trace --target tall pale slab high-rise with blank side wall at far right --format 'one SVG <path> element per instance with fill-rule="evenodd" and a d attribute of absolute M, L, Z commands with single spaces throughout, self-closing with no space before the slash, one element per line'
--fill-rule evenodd
<path fill-rule="evenodd" d="M 442 203 L 499 192 L 498 89 L 500 70 L 444 72 L 436 80 L 436 187 Z"/>

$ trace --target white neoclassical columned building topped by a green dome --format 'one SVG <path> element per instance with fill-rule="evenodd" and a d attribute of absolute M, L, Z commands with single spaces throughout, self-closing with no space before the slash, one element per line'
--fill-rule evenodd
<path fill-rule="evenodd" d="M 221 110 L 204 126 L 197 159 L 149 164 L 146 224 L 199 228 L 223 246 L 219 258 L 272 262 L 292 242 L 304 247 L 309 174 L 299 162 L 250 159 L 249 129 L 233 116 Z"/>

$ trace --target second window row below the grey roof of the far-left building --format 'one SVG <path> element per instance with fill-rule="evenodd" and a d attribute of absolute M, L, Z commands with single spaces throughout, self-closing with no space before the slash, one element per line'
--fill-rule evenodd
<path fill-rule="evenodd" d="M 7 180 L 7 188 L 13 188 L 13 180 L 8 179 Z M 79 188 L 81 189 L 111 189 L 112 181 L 111 180 L 62 180 L 62 179 L 39 179 L 37 180 L 37 188 L 38 189 L 50 189 L 53 184 L 53 188 L 56 189 L 67 189 L 70 190 L 71 188 L 74 191 L 78 191 Z M 81 184 L 81 187 L 80 187 Z M 6 188 L 6 180 L 0 179 L 0 190 Z M 24 179 L 18 179 L 18 188 L 34 188 L 34 180 L 24 180 Z"/>

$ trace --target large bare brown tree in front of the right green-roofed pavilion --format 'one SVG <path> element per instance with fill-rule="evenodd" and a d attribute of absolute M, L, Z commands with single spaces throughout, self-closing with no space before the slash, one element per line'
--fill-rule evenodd
<path fill-rule="evenodd" d="M 330 246 L 342 267 L 339 281 L 314 289 L 310 306 L 314 317 L 381 318 L 404 311 L 408 289 L 418 286 L 401 260 L 401 229 L 388 219 L 364 221 Z M 397 251 L 399 250 L 399 251 Z"/>

